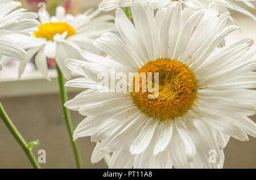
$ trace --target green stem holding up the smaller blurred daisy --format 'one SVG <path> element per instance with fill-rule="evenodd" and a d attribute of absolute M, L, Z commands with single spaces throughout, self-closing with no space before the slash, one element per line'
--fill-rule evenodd
<path fill-rule="evenodd" d="M 58 72 L 59 87 L 60 87 L 60 98 L 61 98 L 61 106 L 62 106 L 62 109 L 63 109 L 63 116 L 64 116 L 65 123 L 66 123 L 67 128 L 68 128 L 68 135 L 69 135 L 69 138 L 71 140 L 73 151 L 75 153 L 77 168 L 81 169 L 82 168 L 82 161 L 81 161 L 79 148 L 78 148 L 77 142 L 73 141 L 73 125 L 72 125 L 72 121 L 71 121 L 71 115 L 70 115 L 69 110 L 64 106 L 65 102 L 68 101 L 68 95 L 67 95 L 67 91 L 64 87 L 63 74 L 60 71 L 60 68 L 57 66 L 57 63 L 56 63 L 56 69 L 57 69 L 57 72 Z"/>

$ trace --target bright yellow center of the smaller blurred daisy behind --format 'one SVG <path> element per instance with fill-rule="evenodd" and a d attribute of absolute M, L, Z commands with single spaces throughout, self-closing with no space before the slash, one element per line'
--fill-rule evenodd
<path fill-rule="evenodd" d="M 76 34 L 76 30 L 67 23 L 45 23 L 41 24 L 38 29 L 39 31 L 34 32 L 33 35 L 39 38 L 46 38 L 48 41 L 53 40 L 57 33 L 62 35 L 67 31 L 66 38 Z"/>

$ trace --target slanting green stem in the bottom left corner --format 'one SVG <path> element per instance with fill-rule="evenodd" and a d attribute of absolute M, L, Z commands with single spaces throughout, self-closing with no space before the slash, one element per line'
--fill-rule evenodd
<path fill-rule="evenodd" d="M 26 153 L 28 160 L 30 160 L 32 166 L 36 169 L 41 169 L 40 165 L 38 164 L 38 161 L 36 161 L 36 158 L 33 154 L 33 152 L 28 148 L 27 142 L 24 140 L 22 135 L 19 133 L 17 128 L 14 126 L 14 123 L 11 121 L 7 113 L 5 112 L 5 109 L 3 109 L 3 106 L 0 102 L 0 117 L 3 119 L 3 122 L 13 134 L 16 141 L 19 143 L 19 145 L 22 147 L 23 151 Z"/>

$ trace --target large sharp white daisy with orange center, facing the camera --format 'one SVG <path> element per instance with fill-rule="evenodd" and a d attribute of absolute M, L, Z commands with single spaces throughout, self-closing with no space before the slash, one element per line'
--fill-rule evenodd
<path fill-rule="evenodd" d="M 230 136 L 242 141 L 247 134 L 256 136 L 255 123 L 247 117 L 256 113 L 256 92 L 249 90 L 256 88 L 256 52 L 249 52 L 253 40 L 216 48 L 238 28 L 225 27 L 229 14 L 218 16 L 216 3 L 198 11 L 181 6 L 173 2 L 154 16 L 152 4 L 135 1 L 135 25 L 118 8 L 115 25 L 122 39 L 104 33 L 95 42 L 108 56 L 82 50 L 86 61 L 65 61 L 85 76 L 67 87 L 89 88 L 65 106 L 86 116 L 73 138 L 92 136 L 98 142 L 93 163 L 113 152 L 110 168 L 222 168 Z M 98 75 L 113 76 L 110 68 L 127 77 L 129 72 L 159 72 L 158 97 L 99 92 Z M 133 82 L 128 85 L 133 88 Z M 216 161 L 208 161 L 209 152 Z"/>

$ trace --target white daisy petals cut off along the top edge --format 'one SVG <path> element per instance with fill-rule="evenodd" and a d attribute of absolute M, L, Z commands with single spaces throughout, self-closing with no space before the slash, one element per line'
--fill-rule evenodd
<path fill-rule="evenodd" d="M 118 7 L 130 7 L 132 1 L 133 0 L 103 0 L 100 3 L 99 8 L 100 10 L 103 10 L 103 11 L 110 11 Z M 154 8 L 166 6 L 171 1 L 176 1 L 176 0 L 140 0 L 140 2 L 142 2 L 143 4 L 147 4 L 149 2 L 153 3 Z M 243 8 L 239 3 L 237 3 L 237 2 L 243 2 L 245 3 L 245 5 L 249 6 L 250 8 L 255 9 L 251 1 L 256 1 L 256 0 L 241 0 L 241 1 L 238 1 L 238 0 L 183 0 L 183 1 L 178 0 L 178 1 L 184 3 L 184 5 L 186 5 L 187 7 L 191 7 L 194 9 L 207 8 L 211 2 L 215 2 L 219 6 L 220 14 L 229 12 L 229 9 L 230 9 L 230 10 L 241 12 L 247 16 L 250 16 L 254 20 L 256 20 L 253 14 L 251 14 L 249 11 Z"/>

